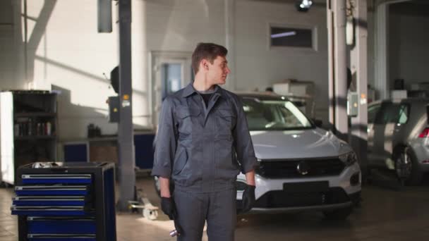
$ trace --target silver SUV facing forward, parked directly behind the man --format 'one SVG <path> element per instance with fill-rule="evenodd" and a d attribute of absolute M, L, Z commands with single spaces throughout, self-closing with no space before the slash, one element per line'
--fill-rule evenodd
<path fill-rule="evenodd" d="M 361 199 L 361 169 L 349 144 L 315 126 L 286 97 L 237 93 L 259 166 L 252 212 L 318 210 L 344 219 Z M 159 191 L 155 179 L 155 187 Z M 246 176 L 236 181 L 237 207 Z"/>

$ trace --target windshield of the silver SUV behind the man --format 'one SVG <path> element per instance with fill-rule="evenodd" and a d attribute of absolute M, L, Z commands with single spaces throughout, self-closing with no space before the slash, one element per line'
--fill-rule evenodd
<path fill-rule="evenodd" d="M 313 124 L 291 101 L 243 97 L 249 130 L 294 130 Z"/>

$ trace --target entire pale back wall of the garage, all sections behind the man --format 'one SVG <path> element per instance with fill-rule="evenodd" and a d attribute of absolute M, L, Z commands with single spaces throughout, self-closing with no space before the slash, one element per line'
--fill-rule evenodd
<path fill-rule="evenodd" d="M 135 128 L 151 125 L 150 52 L 192 52 L 198 42 L 225 44 L 224 2 L 133 0 Z M 23 0 L 13 3 L 14 25 L 0 30 L 0 48 L 10 49 L 0 52 L 1 73 L 8 75 L 0 75 L 0 88 L 59 90 L 61 140 L 85 137 L 89 123 L 99 125 L 103 134 L 116 133 L 116 124 L 107 122 L 105 103 L 115 93 L 103 73 L 109 78 L 119 62 L 117 25 L 109 34 L 97 33 L 97 1 L 27 1 L 31 18 L 26 22 L 20 17 Z M 234 14 L 236 89 L 265 89 L 284 78 L 312 80 L 318 118 L 327 121 L 327 106 L 321 104 L 327 103 L 325 6 L 298 13 L 293 4 L 282 1 L 236 0 Z M 269 23 L 317 27 L 318 50 L 269 49 Z"/>

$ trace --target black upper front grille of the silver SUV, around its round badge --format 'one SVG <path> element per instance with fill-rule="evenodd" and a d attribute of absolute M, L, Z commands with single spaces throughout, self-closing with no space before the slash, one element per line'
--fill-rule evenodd
<path fill-rule="evenodd" d="M 298 171 L 298 164 L 306 165 L 307 173 Z M 308 178 L 339 175 L 345 165 L 338 158 L 260 161 L 256 173 L 265 178 Z"/>

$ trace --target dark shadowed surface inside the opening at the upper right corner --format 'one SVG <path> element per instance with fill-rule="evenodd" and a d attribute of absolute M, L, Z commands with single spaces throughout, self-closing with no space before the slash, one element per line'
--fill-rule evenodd
<path fill-rule="evenodd" d="M 429 5 L 422 5 L 423 8 Z M 412 83 L 429 82 L 429 15 L 420 14 L 417 6 L 408 6 L 390 13 L 389 76 L 391 89 L 394 80 L 404 79 L 406 88 Z M 413 10 L 414 9 L 414 10 Z M 405 12 L 406 11 L 406 12 Z M 428 12 L 428 11 L 426 11 Z"/>

